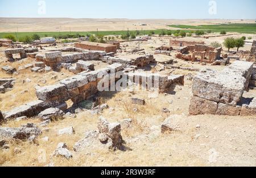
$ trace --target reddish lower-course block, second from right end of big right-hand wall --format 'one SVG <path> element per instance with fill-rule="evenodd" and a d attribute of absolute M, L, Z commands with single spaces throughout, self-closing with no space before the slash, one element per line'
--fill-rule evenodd
<path fill-rule="evenodd" d="M 222 104 L 221 102 L 218 104 L 218 109 L 216 111 L 217 115 L 240 115 L 241 106 L 229 106 Z"/>

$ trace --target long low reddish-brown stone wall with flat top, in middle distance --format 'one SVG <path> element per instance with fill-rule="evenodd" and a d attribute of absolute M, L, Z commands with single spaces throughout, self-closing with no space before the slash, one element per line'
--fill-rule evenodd
<path fill-rule="evenodd" d="M 106 53 L 109 52 L 117 52 L 117 46 L 112 44 L 105 44 L 105 43 L 94 43 L 94 42 L 80 42 L 75 43 L 76 48 L 94 50 L 94 51 L 105 51 Z"/>

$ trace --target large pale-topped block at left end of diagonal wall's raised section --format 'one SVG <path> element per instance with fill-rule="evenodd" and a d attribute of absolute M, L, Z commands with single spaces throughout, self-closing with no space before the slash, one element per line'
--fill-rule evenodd
<path fill-rule="evenodd" d="M 43 101 L 51 100 L 55 97 L 63 98 L 63 100 L 66 100 L 68 96 L 68 90 L 63 84 L 43 86 L 42 88 L 36 90 L 36 96 L 39 100 Z"/>

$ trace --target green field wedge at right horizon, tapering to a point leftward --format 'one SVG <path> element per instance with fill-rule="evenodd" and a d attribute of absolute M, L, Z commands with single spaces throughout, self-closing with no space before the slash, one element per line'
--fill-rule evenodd
<path fill-rule="evenodd" d="M 170 25 L 169 27 L 192 29 L 192 30 L 212 30 L 212 32 L 238 32 L 243 34 L 256 34 L 256 23 L 233 23 L 233 24 L 214 24 L 201 26 L 187 26 L 187 25 Z"/>

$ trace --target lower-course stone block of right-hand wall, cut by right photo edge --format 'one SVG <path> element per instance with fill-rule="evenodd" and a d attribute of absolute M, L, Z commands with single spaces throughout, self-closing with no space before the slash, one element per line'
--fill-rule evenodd
<path fill-rule="evenodd" d="M 242 98 L 241 103 L 242 109 L 240 115 L 256 115 L 256 98 Z"/>

